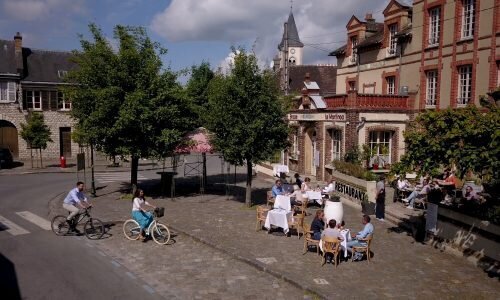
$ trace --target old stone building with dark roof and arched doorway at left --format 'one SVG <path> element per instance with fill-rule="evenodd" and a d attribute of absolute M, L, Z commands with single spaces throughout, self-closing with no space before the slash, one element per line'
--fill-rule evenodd
<path fill-rule="evenodd" d="M 71 101 L 59 87 L 75 68 L 71 53 L 23 47 L 17 33 L 12 41 L 0 40 L 0 147 L 9 148 L 17 159 L 31 151 L 19 132 L 32 112 L 44 115 L 53 142 L 42 152 L 44 158 L 72 157 L 78 145 L 71 140 L 74 121 Z"/>

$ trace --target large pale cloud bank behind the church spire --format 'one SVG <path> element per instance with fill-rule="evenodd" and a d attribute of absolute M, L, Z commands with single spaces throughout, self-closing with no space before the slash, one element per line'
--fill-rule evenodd
<path fill-rule="evenodd" d="M 331 61 L 328 52 L 346 38 L 345 25 L 355 14 L 381 16 L 389 0 L 303 0 L 293 13 L 301 41 L 306 44 L 304 62 Z M 150 27 L 165 39 L 178 41 L 227 41 L 234 45 L 254 43 L 253 50 L 264 63 L 277 53 L 288 19 L 287 0 L 172 0 L 158 13 Z M 380 20 L 380 18 L 379 18 Z M 247 49 L 250 50 L 250 49 Z"/>

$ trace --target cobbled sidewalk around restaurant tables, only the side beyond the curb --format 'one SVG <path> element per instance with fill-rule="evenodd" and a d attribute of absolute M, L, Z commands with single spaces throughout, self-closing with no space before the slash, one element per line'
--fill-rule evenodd
<path fill-rule="evenodd" d="M 254 180 L 254 191 L 256 194 L 265 191 L 272 182 L 272 178 L 259 175 Z M 233 191 L 244 195 L 243 185 L 236 185 Z M 93 200 L 96 216 L 116 223 L 113 229 L 118 238 L 120 222 L 129 218 L 131 206 L 130 200 L 120 198 L 120 188 L 119 184 L 109 185 Z M 51 202 L 54 212 L 59 209 L 59 200 Z M 254 202 L 257 200 L 264 202 L 264 198 L 259 197 Z M 203 195 L 156 198 L 151 202 L 165 207 L 163 221 L 181 233 L 176 239 L 190 237 L 321 298 L 416 299 L 446 295 L 449 298 L 495 299 L 500 293 L 496 279 L 488 278 L 479 268 L 463 258 L 415 242 L 413 237 L 389 222 L 372 221 L 375 233 L 370 263 L 341 262 L 335 268 L 331 264 L 321 266 L 315 252 L 303 255 L 303 239 L 296 235 L 286 237 L 277 232 L 255 231 L 255 209 L 246 208 L 243 199 L 238 197 Z M 309 208 L 306 222 L 311 222 L 316 209 Z M 362 227 L 361 215 L 359 207 L 345 203 L 344 220 L 354 232 Z"/>

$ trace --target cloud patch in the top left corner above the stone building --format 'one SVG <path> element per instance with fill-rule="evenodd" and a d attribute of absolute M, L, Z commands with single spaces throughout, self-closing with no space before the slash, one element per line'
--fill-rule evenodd
<path fill-rule="evenodd" d="M 85 11 L 84 0 L 3 0 L 7 17 L 21 21 L 38 21 Z"/>

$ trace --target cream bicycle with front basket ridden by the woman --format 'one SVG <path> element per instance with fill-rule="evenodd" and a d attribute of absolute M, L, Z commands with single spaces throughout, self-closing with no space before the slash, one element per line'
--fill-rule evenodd
<path fill-rule="evenodd" d="M 158 221 L 159 218 L 163 217 L 165 213 L 165 208 L 157 207 L 153 211 L 153 221 L 146 228 L 146 235 L 151 236 L 153 240 L 159 245 L 165 245 L 170 241 L 170 230 L 165 224 Z M 131 241 L 139 239 L 141 235 L 141 227 L 139 223 L 134 219 L 128 219 L 123 223 L 123 234 L 125 237 Z"/>

